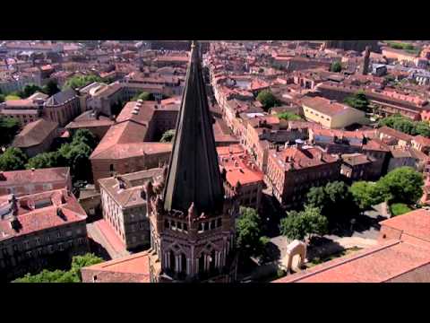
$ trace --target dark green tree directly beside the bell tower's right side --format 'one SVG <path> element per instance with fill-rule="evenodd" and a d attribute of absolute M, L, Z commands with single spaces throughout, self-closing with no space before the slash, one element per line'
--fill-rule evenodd
<path fill-rule="evenodd" d="M 236 224 L 236 244 L 245 255 L 261 256 L 267 238 L 262 237 L 261 219 L 250 207 L 240 207 L 240 217 Z"/>

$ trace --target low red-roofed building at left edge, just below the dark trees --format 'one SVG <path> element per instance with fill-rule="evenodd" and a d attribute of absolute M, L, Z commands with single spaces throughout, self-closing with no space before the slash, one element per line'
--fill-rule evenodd
<path fill-rule="evenodd" d="M 0 196 L 19 197 L 61 188 L 72 189 L 68 167 L 0 172 Z"/>

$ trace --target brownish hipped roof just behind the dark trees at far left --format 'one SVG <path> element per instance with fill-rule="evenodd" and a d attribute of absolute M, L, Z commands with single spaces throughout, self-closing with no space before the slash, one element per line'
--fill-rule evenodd
<path fill-rule="evenodd" d="M 13 146 L 28 148 L 42 144 L 53 131 L 58 127 L 58 123 L 40 118 L 30 122 L 22 131 L 15 136 Z"/>

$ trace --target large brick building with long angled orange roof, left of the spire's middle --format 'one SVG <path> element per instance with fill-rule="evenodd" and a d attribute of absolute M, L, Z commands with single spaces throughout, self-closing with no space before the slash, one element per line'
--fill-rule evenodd
<path fill-rule="evenodd" d="M 176 117 L 176 105 L 128 102 L 90 156 L 96 187 L 98 179 L 115 173 L 149 170 L 167 163 L 172 144 L 156 142 L 155 138 L 175 128 Z"/>

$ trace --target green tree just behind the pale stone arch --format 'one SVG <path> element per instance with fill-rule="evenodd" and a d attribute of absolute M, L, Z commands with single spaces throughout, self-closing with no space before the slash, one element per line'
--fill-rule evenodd
<path fill-rule="evenodd" d="M 305 206 L 304 211 L 290 211 L 280 219 L 280 233 L 290 240 L 305 240 L 312 235 L 324 235 L 328 220 L 318 207 Z"/>

